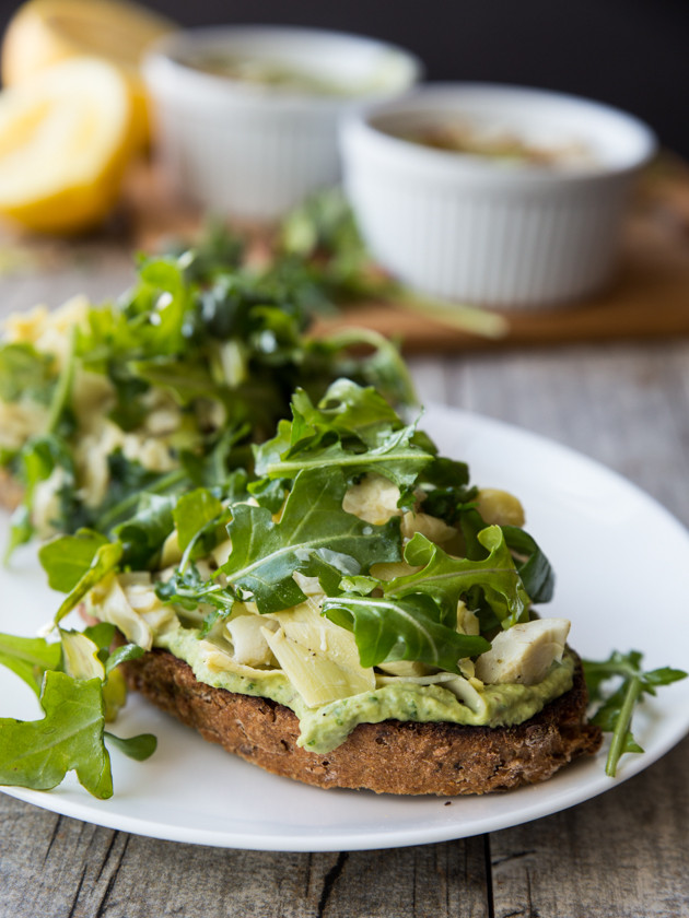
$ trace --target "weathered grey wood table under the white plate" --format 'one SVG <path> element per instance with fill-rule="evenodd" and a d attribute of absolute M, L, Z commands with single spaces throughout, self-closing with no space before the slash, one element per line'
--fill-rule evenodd
<path fill-rule="evenodd" d="M 30 266 L 16 255 L 0 280 L 2 313 L 77 291 L 101 298 L 129 280 L 124 246 L 95 246 L 68 268 L 50 252 Z M 569 444 L 689 525 L 689 340 L 474 350 L 411 366 L 422 399 Z M 689 916 L 688 774 L 685 740 L 615 790 L 516 828 L 315 855 L 131 836 L 0 793 L 0 916 Z"/>

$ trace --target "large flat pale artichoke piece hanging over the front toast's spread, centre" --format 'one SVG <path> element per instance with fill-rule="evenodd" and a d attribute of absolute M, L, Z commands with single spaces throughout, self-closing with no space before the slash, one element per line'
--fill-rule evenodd
<path fill-rule="evenodd" d="M 264 631 L 284 674 L 308 707 L 375 688 L 373 668 L 364 669 L 353 636 L 320 619 L 307 603 L 275 617 L 282 627 Z M 290 615 L 294 621 L 290 621 Z"/>

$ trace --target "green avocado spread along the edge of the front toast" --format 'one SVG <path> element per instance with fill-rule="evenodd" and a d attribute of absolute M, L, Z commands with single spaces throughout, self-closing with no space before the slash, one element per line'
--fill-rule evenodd
<path fill-rule="evenodd" d="M 421 685 L 401 678 L 374 691 L 307 707 L 281 670 L 255 669 L 245 675 L 217 664 L 209 666 L 208 642 L 199 640 L 196 628 L 178 626 L 166 629 L 155 636 L 154 643 L 156 647 L 185 660 L 196 678 L 207 685 L 270 698 L 291 708 L 300 720 L 299 744 L 318 753 L 336 749 L 359 723 L 383 720 L 445 721 L 472 727 L 523 723 L 548 702 L 568 692 L 574 673 L 574 659 L 565 651 L 562 662 L 554 662 L 546 678 L 536 685 L 484 685 L 477 709 L 459 701 L 442 684 Z"/>

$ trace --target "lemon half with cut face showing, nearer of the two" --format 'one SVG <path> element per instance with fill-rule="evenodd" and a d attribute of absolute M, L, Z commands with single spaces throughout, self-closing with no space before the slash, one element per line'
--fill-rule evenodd
<path fill-rule="evenodd" d="M 120 71 L 74 58 L 0 94 L 0 215 L 77 233 L 112 209 L 131 156 Z"/>

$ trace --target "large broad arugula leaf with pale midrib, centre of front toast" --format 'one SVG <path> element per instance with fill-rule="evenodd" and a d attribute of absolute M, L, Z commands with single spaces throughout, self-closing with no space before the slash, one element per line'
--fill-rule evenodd
<path fill-rule="evenodd" d="M 314 555 L 344 575 L 367 573 L 372 564 L 399 561 L 399 519 L 373 526 L 342 509 L 347 482 L 339 469 L 300 472 L 280 522 L 269 510 L 237 504 L 227 526 L 233 550 L 220 568 L 238 598 L 252 598 L 259 612 L 278 612 L 303 602 L 292 579 Z"/>

